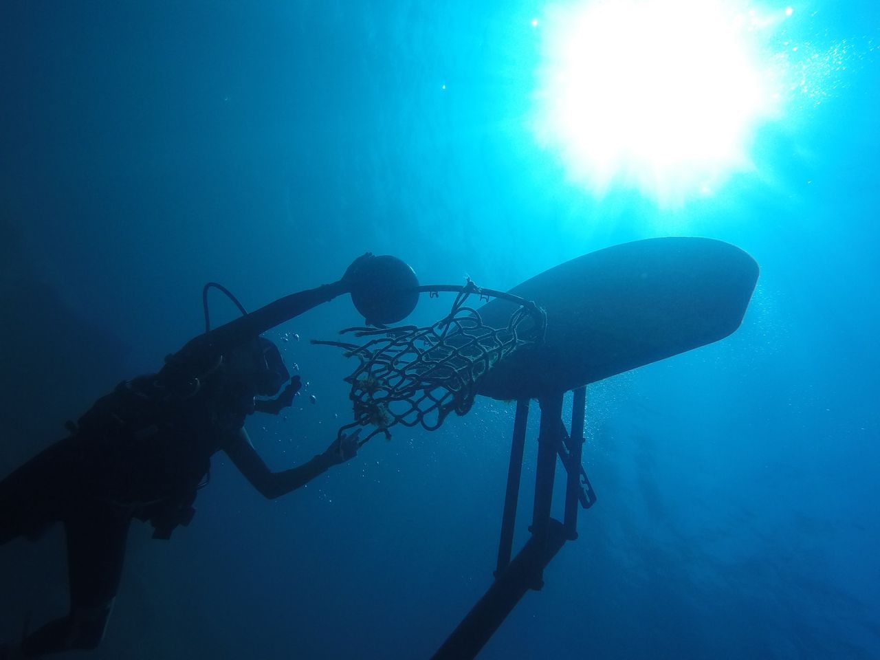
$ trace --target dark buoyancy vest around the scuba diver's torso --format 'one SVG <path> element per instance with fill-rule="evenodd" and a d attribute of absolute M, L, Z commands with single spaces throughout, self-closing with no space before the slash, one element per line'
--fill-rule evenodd
<path fill-rule="evenodd" d="M 210 457 L 244 425 L 253 410 L 253 397 L 249 401 L 220 382 L 184 394 L 167 390 L 152 374 L 117 385 L 74 429 L 92 466 L 91 490 L 149 520 L 155 538 L 169 538 L 174 527 L 192 518 Z"/>

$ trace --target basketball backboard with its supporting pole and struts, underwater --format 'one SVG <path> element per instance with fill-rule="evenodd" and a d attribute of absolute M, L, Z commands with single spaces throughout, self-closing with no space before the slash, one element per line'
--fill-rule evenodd
<path fill-rule="evenodd" d="M 748 254 L 720 241 L 654 238 L 586 254 L 510 290 L 546 311 L 545 339 L 480 379 L 480 394 L 517 400 L 495 581 L 434 660 L 477 656 L 525 592 L 542 588 L 544 568 L 561 546 L 577 538 L 578 505 L 596 502 L 581 466 L 586 385 L 726 337 L 742 322 L 758 272 Z M 510 304 L 493 300 L 479 312 L 500 326 Z M 568 390 L 570 433 L 561 419 Z M 532 536 L 511 560 L 532 398 L 541 415 Z M 557 456 L 567 475 L 562 522 L 551 517 Z"/>

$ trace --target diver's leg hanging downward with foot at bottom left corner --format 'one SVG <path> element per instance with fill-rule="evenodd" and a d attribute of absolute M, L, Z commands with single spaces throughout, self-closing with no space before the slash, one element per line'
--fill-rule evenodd
<path fill-rule="evenodd" d="M 70 614 L 28 635 L 26 657 L 98 646 L 119 588 L 129 521 L 104 507 L 65 521 Z"/>

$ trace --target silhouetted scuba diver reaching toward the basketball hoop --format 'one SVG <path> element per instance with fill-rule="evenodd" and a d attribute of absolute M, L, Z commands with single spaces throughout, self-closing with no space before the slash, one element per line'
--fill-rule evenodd
<path fill-rule="evenodd" d="M 364 254 L 340 281 L 284 297 L 215 330 L 209 329 L 207 291 L 224 289 L 206 285 L 205 334 L 166 357 L 158 373 L 123 382 L 97 400 L 77 423 L 67 423 L 68 436 L 0 481 L 0 545 L 19 536 L 38 539 L 62 523 L 70 583 L 70 613 L 16 644 L 0 645 L 0 660 L 96 648 L 119 587 L 131 520 L 150 522 L 157 539 L 189 524 L 217 451 L 267 498 L 296 490 L 356 455 L 357 432 L 338 436 L 302 466 L 273 473 L 244 424 L 254 412 L 278 414 L 300 387 L 278 348 L 260 333 L 352 292 L 356 273 L 374 259 Z M 285 383 L 276 399 L 255 399 L 274 396 Z"/>

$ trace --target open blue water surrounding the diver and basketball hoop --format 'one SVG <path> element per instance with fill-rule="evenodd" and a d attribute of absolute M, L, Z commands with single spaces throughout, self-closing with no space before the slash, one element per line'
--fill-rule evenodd
<path fill-rule="evenodd" d="M 880 656 L 880 17 L 795 6 L 844 68 L 759 128 L 753 171 L 670 209 L 584 192 L 534 139 L 537 3 L 4 3 L 0 473 L 200 332 L 209 280 L 255 309 L 370 250 L 507 289 L 719 238 L 761 266 L 743 326 L 590 385 L 598 503 L 480 657 Z M 358 321 L 340 298 L 270 333 L 316 397 L 249 422 L 275 469 L 350 414 L 351 365 L 308 340 Z M 512 424 L 478 400 L 275 502 L 216 456 L 190 527 L 133 529 L 92 657 L 430 656 L 491 583 Z M 0 548 L 0 639 L 64 612 L 63 556 L 60 532 Z"/>

